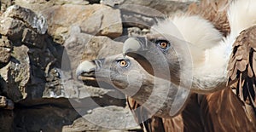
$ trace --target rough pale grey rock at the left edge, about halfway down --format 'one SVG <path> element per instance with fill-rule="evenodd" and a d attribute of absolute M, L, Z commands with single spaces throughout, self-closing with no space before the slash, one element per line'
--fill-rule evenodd
<path fill-rule="evenodd" d="M 27 51 L 28 48 L 24 45 L 14 47 L 13 58 L 8 65 L 0 69 L 0 74 L 7 85 L 3 93 L 14 102 L 26 98 L 26 84 L 30 78 L 30 61 Z"/>

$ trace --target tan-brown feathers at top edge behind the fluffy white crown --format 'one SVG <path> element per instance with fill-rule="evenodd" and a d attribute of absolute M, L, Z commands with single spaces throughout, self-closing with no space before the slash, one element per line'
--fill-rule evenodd
<path fill-rule="evenodd" d="M 230 25 L 227 19 L 227 9 L 230 0 L 202 0 L 201 3 L 191 3 L 189 14 L 199 14 L 204 19 L 209 20 L 222 32 L 224 36 L 230 33 Z"/>

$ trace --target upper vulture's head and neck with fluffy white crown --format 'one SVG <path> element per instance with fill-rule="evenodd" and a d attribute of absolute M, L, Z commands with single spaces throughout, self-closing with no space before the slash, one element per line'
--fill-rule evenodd
<path fill-rule="evenodd" d="M 148 62 L 157 63 L 159 67 L 154 72 L 158 75 L 154 76 L 177 85 L 191 83 L 185 88 L 207 93 L 217 90 L 219 85 L 225 86 L 226 66 L 222 62 L 227 57 L 213 55 L 221 52 L 221 40 L 222 35 L 209 21 L 199 16 L 177 17 L 159 21 L 146 37 L 128 38 L 123 55 L 131 56 L 143 67 L 149 66 Z M 165 69 L 161 67 L 163 63 L 168 71 L 161 70 Z M 171 77 L 166 77 L 166 73 Z"/>

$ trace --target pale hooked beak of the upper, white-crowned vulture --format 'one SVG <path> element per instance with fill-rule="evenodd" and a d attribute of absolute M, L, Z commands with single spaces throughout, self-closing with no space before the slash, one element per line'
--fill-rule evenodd
<path fill-rule="evenodd" d="M 145 37 L 130 37 L 125 40 L 123 47 L 123 55 L 128 55 L 132 52 L 143 51 L 143 45 L 147 44 Z"/>

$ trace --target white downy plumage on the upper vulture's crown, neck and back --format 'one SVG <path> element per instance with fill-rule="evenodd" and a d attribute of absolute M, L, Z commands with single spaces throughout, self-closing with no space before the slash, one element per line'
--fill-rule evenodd
<path fill-rule="evenodd" d="M 232 44 L 242 30 L 256 24 L 256 0 L 235 0 L 230 3 L 228 19 L 228 37 L 222 37 L 209 21 L 200 16 L 179 16 L 153 26 L 154 31 L 168 33 L 191 43 L 189 49 L 194 65 L 192 89 L 196 92 L 207 93 L 225 88 Z M 188 69 L 186 66 L 182 68 Z"/>

